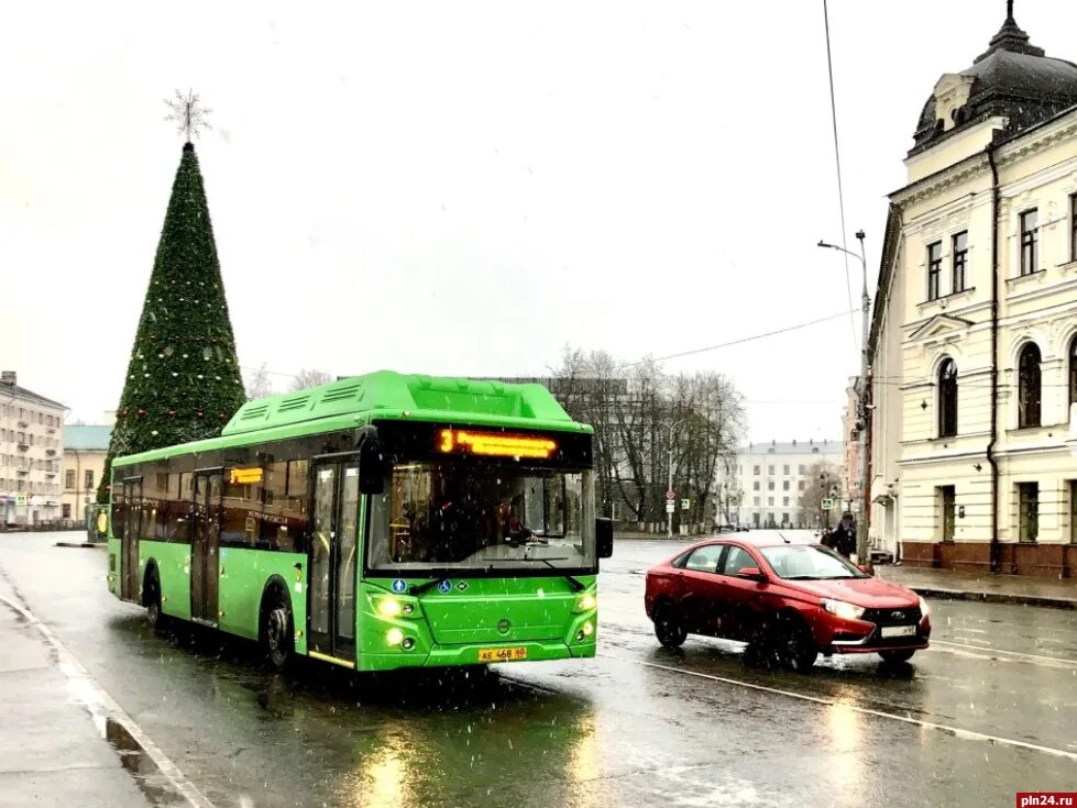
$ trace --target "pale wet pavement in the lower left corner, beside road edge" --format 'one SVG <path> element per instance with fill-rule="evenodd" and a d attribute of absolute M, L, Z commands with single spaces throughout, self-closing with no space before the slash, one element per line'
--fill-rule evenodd
<path fill-rule="evenodd" d="M 19 602 L 2 580 L 0 597 Z M 90 713 L 69 691 L 52 647 L 3 600 L 0 710 L 0 806 L 149 805 Z"/>

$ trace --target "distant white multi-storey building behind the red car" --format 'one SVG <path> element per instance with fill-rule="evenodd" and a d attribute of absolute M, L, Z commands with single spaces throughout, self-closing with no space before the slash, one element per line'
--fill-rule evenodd
<path fill-rule="evenodd" d="M 840 499 L 840 441 L 750 443 L 737 451 L 735 473 L 718 479 L 718 521 L 749 528 L 814 528 L 820 511 L 801 507 L 813 488 L 835 489 Z M 820 480 L 820 475 L 825 475 Z M 837 506 L 838 502 L 835 502 Z M 842 505 L 844 507 L 844 503 Z M 835 524 L 837 516 L 832 516 Z"/>

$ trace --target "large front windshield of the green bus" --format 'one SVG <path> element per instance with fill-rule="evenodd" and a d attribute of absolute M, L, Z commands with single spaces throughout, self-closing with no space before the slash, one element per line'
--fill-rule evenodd
<path fill-rule="evenodd" d="M 406 463 L 386 483 L 371 497 L 371 571 L 595 567 L 591 472 Z"/>

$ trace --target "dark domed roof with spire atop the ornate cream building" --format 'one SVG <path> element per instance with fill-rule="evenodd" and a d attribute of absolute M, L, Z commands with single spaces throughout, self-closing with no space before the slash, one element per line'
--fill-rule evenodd
<path fill-rule="evenodd" d="M 968 99 L 952 113 L 954 125 L 946 129 L 938 120 L 933 93 L 921 110 L 910 156 L 987 118 L 1005 118 L 998 137 L 1009 137 L 1077 104 L 1077 65 L 1033 45 L 1013 19 L 1012 2 L 988 49 L 957 75 L 972 80 Z"/>

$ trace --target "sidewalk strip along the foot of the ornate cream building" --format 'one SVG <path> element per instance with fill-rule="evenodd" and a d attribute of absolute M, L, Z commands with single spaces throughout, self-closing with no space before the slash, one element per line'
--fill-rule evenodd
<path fill-rule="evenodd" d="M 1077 609 L 1077 580 L 879 565 L 875 574 L 927 598 Z"/>

